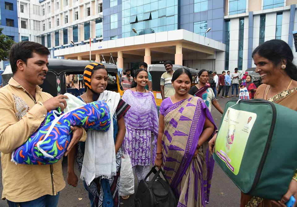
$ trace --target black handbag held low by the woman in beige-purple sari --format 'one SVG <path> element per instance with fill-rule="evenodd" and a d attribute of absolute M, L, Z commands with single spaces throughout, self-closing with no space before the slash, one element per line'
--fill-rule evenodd
<path fill-rule="evenodd" d="M 162 179 L 160 177 L 162 173 Z M 149 175 L 155 174 L 153 180 L 146 181 Z M 140 180 L 134 199 L 135 207 L 176 207 L 177 200 L 162 169 L 157 171 L 155 166 L 149 171 L 144 180 Z"/>

